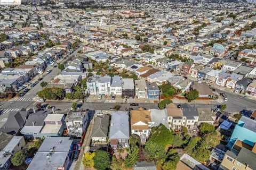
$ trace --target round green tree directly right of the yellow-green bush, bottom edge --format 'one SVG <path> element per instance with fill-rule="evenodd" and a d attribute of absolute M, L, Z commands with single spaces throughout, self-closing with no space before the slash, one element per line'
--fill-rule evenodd
<path fill-rule="evenodd" d="M 105 170 L 110 167 L 110 155 L 107 151 L 96 150 L 93 157 L 94 168 L 97 170 Z"/>

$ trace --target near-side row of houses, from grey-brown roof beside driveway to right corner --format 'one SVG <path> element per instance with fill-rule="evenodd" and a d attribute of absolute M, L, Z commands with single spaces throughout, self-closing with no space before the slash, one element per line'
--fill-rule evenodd
<path fill-rule="evenodd" d="M 193 108 L 182 104 L 179 108 L 169 104 L 165 109 L 150 109 L 127 112 L 95 111 L 95 123 L 92 130 L 92 143 L 108 142 L 114 149 L 129 146 L 130 134 L 140 136 L 146 142 L 151 129 L 159 125 L 175 131 L 184 126 L 189 131 L 197 130 L 201 123 L 213 124 L 217 116 L 210 108 Z M 111 116 L 111 121 L 110 121 Z"/>

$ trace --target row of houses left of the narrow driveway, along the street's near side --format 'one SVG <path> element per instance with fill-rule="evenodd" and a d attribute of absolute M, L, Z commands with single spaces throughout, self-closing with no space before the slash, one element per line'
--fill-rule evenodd
<path fill-rule="evenodd" d="M 65 116 L 54 114 L 51 109 L 37 112 L 21 109 L 0 115 L 0 132 L 33 139 L 61 137 L 67 129 L 70 136 L 81 138 L 92 115 L 92 111 L 70 111 Z"/>

